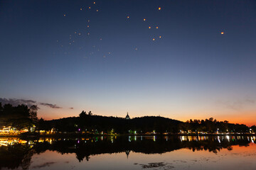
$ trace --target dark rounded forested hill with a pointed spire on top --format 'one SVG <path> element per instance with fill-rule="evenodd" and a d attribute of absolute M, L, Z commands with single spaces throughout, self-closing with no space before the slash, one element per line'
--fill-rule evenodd
<path fill-rule="evenodd" d="M 58 120 L 39 120 L 40 129 L 52 127 L 60 132 L 93 132 L 96 133 L 137 133 L 140 132 L 177 132 L 178 120 L 160 116 L 145 116 L 141 118 L 124 119 L 102 115 L 80 114 L 79 117 L 60 118 Z"/>

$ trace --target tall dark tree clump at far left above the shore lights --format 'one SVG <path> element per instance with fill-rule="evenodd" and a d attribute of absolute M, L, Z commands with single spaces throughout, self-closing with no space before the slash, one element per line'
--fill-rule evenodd
<path fill-rule="evenodd" d="M 0 127 L 12 126 L 21 130 L 23 128 L 30 128 L 32 125 L 36 125 L 37 118 L 37 106 L 18 105 L 12 106 L 11 104 L 0 103 Z"/>

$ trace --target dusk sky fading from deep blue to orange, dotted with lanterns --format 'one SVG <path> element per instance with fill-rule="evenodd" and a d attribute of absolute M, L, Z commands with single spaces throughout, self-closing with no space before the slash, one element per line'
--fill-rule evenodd
<path fill-rule="evenodd" d="M 0 102 L 256 124 L 256 1 L 0 1 Z"/>

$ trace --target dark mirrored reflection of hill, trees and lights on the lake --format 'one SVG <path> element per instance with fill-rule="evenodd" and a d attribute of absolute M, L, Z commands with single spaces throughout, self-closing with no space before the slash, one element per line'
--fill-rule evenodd
<path fill-rule="evenodd" d="M 34 154 L 54 151 L 75 154 L 79 162 L 89 161 L 97 154 L 130 152 L 162 154 L 177 149 L 208 150 L 217 154 L 221 149 L 232 150 L 233 145 L 249 146 L 255 137 L 246 136 L 100 136 L 85 138 L 0 138 L 0 169 L 29 169 Z"/>

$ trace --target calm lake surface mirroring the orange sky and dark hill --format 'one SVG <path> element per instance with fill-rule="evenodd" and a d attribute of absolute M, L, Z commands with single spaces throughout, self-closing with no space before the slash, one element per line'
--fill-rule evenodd
<path fill-rule="evenodd" d="M 256 169 L 255 137 L 0 138 L 0 169 Z"/>

